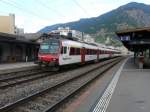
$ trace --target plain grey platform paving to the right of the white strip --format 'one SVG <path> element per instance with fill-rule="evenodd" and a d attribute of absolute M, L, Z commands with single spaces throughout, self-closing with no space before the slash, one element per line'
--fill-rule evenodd
<path fill-rule="evenodd" d="M 133 58 L 121 71 L 106 112 L 149 112 L 150 69 L 137 69 Z"/>

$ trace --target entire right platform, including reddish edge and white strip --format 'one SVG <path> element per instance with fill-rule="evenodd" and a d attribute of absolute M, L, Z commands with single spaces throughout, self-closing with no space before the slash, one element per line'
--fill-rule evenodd
<path fill-rule="evenodd" d="M 64 112 L 149 112 L 150 69 L 132 57 L 120 62 L 81 94 Z"/>

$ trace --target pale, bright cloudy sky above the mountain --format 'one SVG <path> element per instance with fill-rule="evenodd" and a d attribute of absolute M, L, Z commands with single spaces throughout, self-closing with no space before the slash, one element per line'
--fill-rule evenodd
<path fill-rule="evenodd" d="M 14 13 L 16 26 L 37 32 L 56 23 L 96 17 L 129 2 L 150 0 L 0 0 L 0 15 Z"/>

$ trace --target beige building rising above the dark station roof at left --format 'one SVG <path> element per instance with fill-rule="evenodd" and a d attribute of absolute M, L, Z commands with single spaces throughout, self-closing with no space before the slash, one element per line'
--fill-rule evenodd
<path fill-rule="evenodd" d="M 15 15 L 9 14 L 9 16 L 0 16 L 0 32 L 8 34 L 23 34 L 24 30 L 15 26 Z"/>

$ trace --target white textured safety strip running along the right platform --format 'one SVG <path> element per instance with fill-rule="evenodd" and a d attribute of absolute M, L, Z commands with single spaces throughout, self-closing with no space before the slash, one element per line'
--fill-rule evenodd
<path fill-rule="evenodd" d="M 126 61 L 128 59 L 126 59 L 124 61 L 124 63 L 121 65 L 121 67 L 119 68 L 119 70 L 116 72 L 116 74 L 114 75 L 112 81 L 110 82 L 110 84 L 108 85 L 107 89 L 105 90 L 104 94 L 102 95 L 102 97 L 100 98 L 100 100 L 98 101 L 97 105 L 95 106 L 95 108 L 93 109 L 93 112 L 106 112 L 106 109 L 109 105 L 109 102 L 111 100 L 111 97 L 113 95 L 113 92 L 115 90 L 115 87 L 117 85 L 118 79 L 120 77 L 121 71 L 123 69 L 123 66 L 125 65 Z"/>

